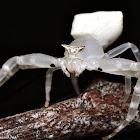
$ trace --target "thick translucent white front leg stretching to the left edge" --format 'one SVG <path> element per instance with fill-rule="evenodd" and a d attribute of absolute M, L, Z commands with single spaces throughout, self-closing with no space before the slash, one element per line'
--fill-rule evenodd
<path fill-rule="evenodd" d="M 58 67 L 57 58 L 44 54 L 28 54 L 8 59 L 0 69 L 0 86 L 2 86 L 19 69 Z"/>

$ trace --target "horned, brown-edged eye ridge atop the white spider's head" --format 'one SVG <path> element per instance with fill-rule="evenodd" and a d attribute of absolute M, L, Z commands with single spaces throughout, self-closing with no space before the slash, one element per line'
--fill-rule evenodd
<path fill-rule="evenodd" d="M 78 58 L 77 54 L 85 48 L 85 46 L 76 47 L 66 44 L 62 44 L 62 46 L 66 49 L 69 58 Z"/>

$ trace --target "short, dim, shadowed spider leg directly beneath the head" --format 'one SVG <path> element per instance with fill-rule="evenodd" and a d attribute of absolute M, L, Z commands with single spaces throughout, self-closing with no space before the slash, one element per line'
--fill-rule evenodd
<path fill-rule="evenodd" d="M 78 86 L 78 79 L 77 77 L 75 77 L 74 74 L 71 74 L 71 82 L 72 82 L 72 85 L 76 91 L 76 94 L 79 95 L 80 94 L 80 89 L 79 89 L 79 86 Z"/>

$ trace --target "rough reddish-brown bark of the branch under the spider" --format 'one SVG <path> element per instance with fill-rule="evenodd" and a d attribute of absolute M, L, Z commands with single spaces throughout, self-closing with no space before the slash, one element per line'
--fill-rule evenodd
<path fill-rule="evenodd" d="M 97 80 L 79 97 L 0 119 L 0 138 L 71 139 L 110 132 L 127 114 L 124 86 Z M 125 130 L 140 127 L 139 113 Z"/>

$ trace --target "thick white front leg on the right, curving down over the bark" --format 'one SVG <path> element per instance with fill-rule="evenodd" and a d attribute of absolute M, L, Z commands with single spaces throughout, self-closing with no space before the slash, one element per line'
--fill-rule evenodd
<path fill-rule="evenodd" d="M 134 93 L 132 95 L 127 117 L 113 131 L 112 134 L 103 138 L 103 140 L 108 140 L 109 138 L 113 137 L 118 132 L 120 132 L 126 125 L 128 125 L 135 118 L 137 114 L 137 109 L 140 104 L 140 63 L 127 59 L 114 58 L 114 59 L 101 60 L 98 62 L 98 65 L 104 72 L 126 76 L 127 77 L 126 81 L 129 84 L 130 84 L 130 77 L 138 78 L 137 84 L 134 88 Z M 130 86 L 128 86 L 128 88 L 129 87 Z"/>

